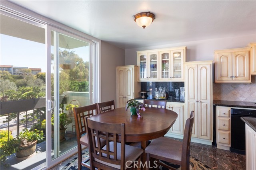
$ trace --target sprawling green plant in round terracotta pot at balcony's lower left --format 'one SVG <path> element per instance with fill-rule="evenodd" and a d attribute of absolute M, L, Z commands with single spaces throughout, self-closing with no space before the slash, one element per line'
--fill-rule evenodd
<path fill-rule="evenodd" d="M 42 141 L 44 139 L 43 131 L 34 129 L 34 131 L 29 131 L 24 129 L 20 132 L 19 136 L 16 138 L 10 138 L 9 141 L 5 141 L 1 145 L 1 162 L 5 164 L 7 156 L 16 152 L 16 157 L 24 158 L 33 154 L 36 150 L 37 141 Z M 5 166 L 8 166 L 8 164 Z"/>

